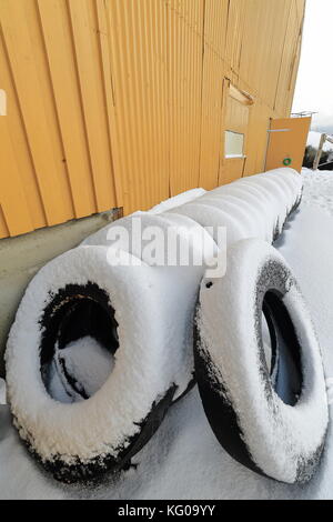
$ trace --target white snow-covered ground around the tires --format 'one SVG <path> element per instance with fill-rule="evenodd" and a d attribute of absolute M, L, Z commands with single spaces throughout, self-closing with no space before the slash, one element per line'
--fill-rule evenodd
<path fill-rule="evenodd" d="M 275 247 L 303 289 L 322 345 L 326 378 L 332 379 L 333 172 L 303 171 L 303 175 L 304 201 Z M 333 499 L 332 436 L 330 426 L 321 466 L 307 485 L 291 486 L 259 476 L 219 445 L 195 387 L 171 408 L 157 434 L 134 458 L 137 469 L 109 476 L 99 486 L 69 486 L 57 483 L 28 455 L 11 425 L 9 409 L 0 400 L 0 498 Z"/>

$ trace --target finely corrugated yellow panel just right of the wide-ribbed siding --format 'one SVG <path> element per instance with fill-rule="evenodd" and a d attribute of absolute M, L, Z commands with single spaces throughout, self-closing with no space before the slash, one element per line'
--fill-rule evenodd
<path fill-rule="evenodd" d="M 169 195 L 167 4 L 108 2 L 124 212 Z"/>

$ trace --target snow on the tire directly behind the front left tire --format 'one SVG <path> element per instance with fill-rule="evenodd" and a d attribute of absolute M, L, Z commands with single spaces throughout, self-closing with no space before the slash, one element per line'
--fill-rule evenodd
<path fill-rule="evenodd" d="M 137 233 L 138 221 L 135 224 L 138 219 L 141 229 L 139 233 Z M 162 214 L 135 212 L 93 233 L 82 244 L 111 247 L 111 238 L 117 235 L 119 227 L 128 231 L 129 241 L 124 241 L 124 238 L 121 237 L 117 248 L 129 251 L 132 255 L 140 258 L 150 265 L 154 260 L 149 255 L 151 248 L 145 250 L 145 247 L 149 247 L 154 231 L 163 233 L 165 238 L 165 249 L 162 252 L 164 264 L 153 268 L 161 282 L 168 281 L 165 283 L 168 292 L 163 293 L 161 289 L 161 300 L 174 301 L 168 320 L 173 332 L 174 350 L 178 353 L 178 364 L 174 364 L 174 380 L 178 387 L 173 396 L 175 401 L 194 383 L 192 325 L 198 288 L 206 268 L 205 261 L 210 262 L 216 259 L 219 249 L 212 237 L 199 223 L 188 215 L 172 213 L 171 211 Z M 167 243 L 171 229 L 176 241 Z M 189 262 L 182 265 L 181 254 L 183 252 L 189 253 Z M 170 262 L 172 258 L 173 261 Z M 199 260 L 198 263 L 195 263 L 195 259 Z"/>

